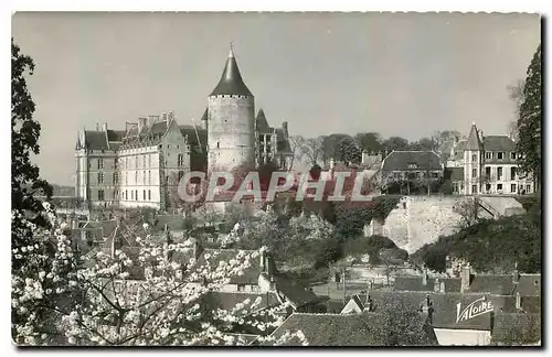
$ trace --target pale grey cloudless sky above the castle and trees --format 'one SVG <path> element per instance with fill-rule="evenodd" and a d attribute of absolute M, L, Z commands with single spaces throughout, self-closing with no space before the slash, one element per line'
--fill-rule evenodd
<path fill-rule="evenodd" d="M 77 131 L 174 111 L 199 122 L 230 48 L 268 122 L 290 134 L 507 132 L 538 14 L 18 12 L 36 68 L 41 175 L 74 184 Z"/>

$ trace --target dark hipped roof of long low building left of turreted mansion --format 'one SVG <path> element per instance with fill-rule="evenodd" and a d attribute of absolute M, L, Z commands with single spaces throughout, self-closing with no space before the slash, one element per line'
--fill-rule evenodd
<path fill-rule="evenodd" d="M 408 164 L 416 164 L 417 169 L 408 169 Z M 440 158 L 433 151 L 393 151 L 383 160 L 382 164 L 383 171 L 440 169 Z"/>

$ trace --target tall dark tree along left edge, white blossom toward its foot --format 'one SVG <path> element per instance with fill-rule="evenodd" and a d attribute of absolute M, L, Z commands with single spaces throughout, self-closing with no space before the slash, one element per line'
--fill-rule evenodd
<path fill-rule="evenodd" d="M 57 242 L 47 235 L 51 227 L 50 204 L 52 186 L 40 178 L 39 167 L 31 163 L 31 154 L 39 154 L 41 126 L 33 119 L 34 101 L 26 87 L 25 75 L 32 75 L 34 62 L 21 54 L 11 40 L 11 249 L 12 249 L 12 336 L 18 344 L 41 343 L 45 339 L 39 327 L 50 327 L 51 314 L 44 301 L 44 290 L 54 289 L 54 282 L 43 284 L 45 274 L 62 267 L 52 263 Z M 59 278 L 60 280 L 62 278 Z M 40 304 L 33 304 L 40 300 Z"/>

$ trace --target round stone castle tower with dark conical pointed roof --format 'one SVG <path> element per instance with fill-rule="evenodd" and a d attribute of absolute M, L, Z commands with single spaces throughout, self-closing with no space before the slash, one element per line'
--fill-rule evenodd
<path fill-rule="evenodd" d="M 221 80 L 209 96 L 209 170 L 231 171 L 255 163 L 255 100 L 230 47 Z"/>

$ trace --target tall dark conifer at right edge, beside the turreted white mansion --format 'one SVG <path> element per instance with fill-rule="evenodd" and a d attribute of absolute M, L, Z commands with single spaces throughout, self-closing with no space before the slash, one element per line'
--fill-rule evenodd
<path fill-rule="evenodd" d="M 537 184 L 541 182 L 541 131 L 542 131 L 542 94 L 541 94 L 541 45 L 527 69 L 523 86 L 523 101 L 519 109 L 517 150 L 520 153 L 520 171 L 532 174 Z"/>

